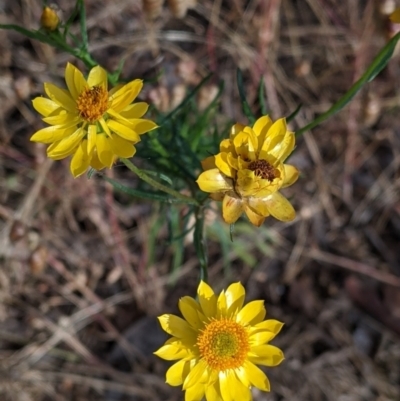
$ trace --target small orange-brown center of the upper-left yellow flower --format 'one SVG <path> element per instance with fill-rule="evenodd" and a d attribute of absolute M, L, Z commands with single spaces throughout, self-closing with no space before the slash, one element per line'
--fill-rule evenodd
<path fill-rule="evenodd" d="M 77 100 L 79 115 L 89 123 L 98 121 L 108 109 L 108 92 L 103 86 L 85 88 Z"/>

